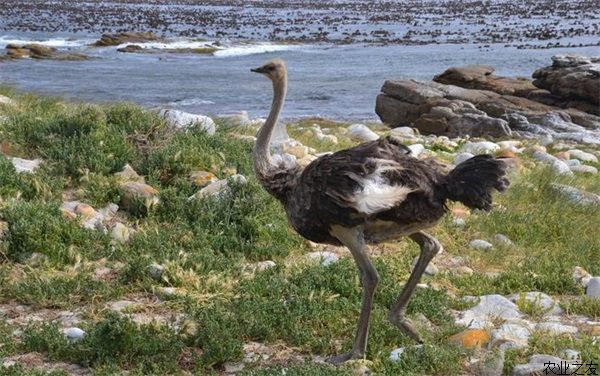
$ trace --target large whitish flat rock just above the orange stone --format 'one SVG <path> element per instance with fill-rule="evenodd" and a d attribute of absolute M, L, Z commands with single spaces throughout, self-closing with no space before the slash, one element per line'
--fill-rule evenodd
<path fill-rule="evenodd" d="M 502 295 L 484 295 L 479 297 L 479 303 L 475 307 L 460 312 L 456 323 L 472 329 L 483 329 L 491 326 L 495 319 L 506 320 L 521 316 L 519 307 Z"/>

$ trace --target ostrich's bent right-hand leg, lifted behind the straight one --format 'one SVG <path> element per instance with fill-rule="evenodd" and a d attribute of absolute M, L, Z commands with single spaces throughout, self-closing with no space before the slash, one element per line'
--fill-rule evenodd
<path fill-rule="evenodd" d="M 440 251 L 442 246 L 434 237 L 422 231 L 411 234 L 409 237 L 419 244 L 421 253 L 419 254 L 419 260 L 417 261 L 415 268 L 410 274 L 410 277 L 408 277 L 408 281 L 398 297 L 398 301 L 390 310 L 388 318 L 410 338 L 422 343 L 423 340 L 421 339 L 421 336 L 415 330 L 410 320 L 404 317 L 404 314 L 406 312 L 408 301 L 415 291 L 415 287 L 417 286 L 417 283 L 419 283 L 421 275 L 423 275 L 423 272 L 427 268 L 427 264 L 429 264 L 429 261 L 431 261 L 431 259 Z"/>

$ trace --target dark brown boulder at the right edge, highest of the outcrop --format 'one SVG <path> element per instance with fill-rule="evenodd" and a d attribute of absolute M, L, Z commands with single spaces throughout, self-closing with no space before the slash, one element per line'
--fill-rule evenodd
<path fill-rule="evenodd" d="M 557 55 L 533 73 L 533 84 L 577 108 L 600 115 L 600 57 Z M 581 105 L 587 102 L 587 106 Z"/>

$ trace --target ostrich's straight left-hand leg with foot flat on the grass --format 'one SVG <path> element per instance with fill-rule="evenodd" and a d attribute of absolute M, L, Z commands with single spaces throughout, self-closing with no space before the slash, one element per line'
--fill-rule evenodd
<path fill-rule="evenodd" d="M 369 335 L 369 318 L 373 307 L 373 295 L 375 287 L 379 281 L 377 270 L 369 260 L 365 253 L 365 240 L 362 229 L 360 228 L 345 228 L 341 226 L 333 226 L 331 234 L 339 239 L 350 252 L 358 270 L 360 272 L 360 280 L 362 284 L 362 308 L 360 310 L 360 318 L 358 319 L 358 328 L 352 350 L 346 354 L 328 358 L 327 361 L 333 364 L 343 363 L 350 359 L 363 358 L 367 351 L 367 338 Z"/>

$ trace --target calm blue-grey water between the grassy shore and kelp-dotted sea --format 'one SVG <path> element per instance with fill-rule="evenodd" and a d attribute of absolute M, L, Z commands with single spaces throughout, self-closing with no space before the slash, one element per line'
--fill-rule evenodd
<path fill-rule="evenodd" d="M 8 35 L 0 36 L 0 40 L 9 39 Z M 61 43 L 67 42 L 55 42 Z M 264 53 L 255 48 L 223 57 L 70 48 L 81 49 L 95 59 L 4 62 L 0 63 L 0 82 L 24 91 L 86 101 L 126 100 L 208 115 L 246 110 L 252 117 L 266 116 L 270 83 L 249 69 L 279 57 L 287 61 L 289 68 L 284 117 L 358 120 L 376 119 L 375 98 L 386 79 L 431 79 L 450 66 L 463 64 L 490 64 L 500 75 L 530 77 L 535 69 L 549 65 L 552 55 L 599 54 L 597 47 L 519 50 L 500 45 L 479 48 L 456 44 L 296 46 Z"/>

